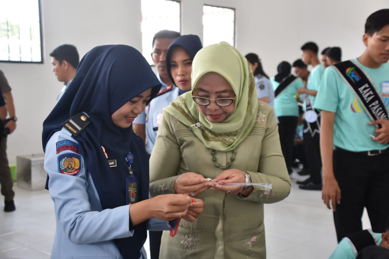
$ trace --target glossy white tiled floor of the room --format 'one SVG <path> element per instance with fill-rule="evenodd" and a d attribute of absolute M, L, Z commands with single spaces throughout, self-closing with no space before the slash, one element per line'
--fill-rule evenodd
<path fill-rule="evenodd" d="M 286 200 L 265 205 L 268 259 L 326 259 L 336 247 L 331 210 L 320 191 L 303 191 L 293 174 Z M 15 186 L 16 211 L 0 211 L 0 259 L 47 259 L 53 244 L 55 216 L 48 191 L 26 191 Z M 370 228 L 367 214 L 364 228 Z M 148 252 L 148 240 L 145 243 Z"/>

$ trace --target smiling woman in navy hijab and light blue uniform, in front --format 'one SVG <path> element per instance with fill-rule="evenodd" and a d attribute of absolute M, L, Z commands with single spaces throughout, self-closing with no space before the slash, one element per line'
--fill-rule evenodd
<path fill-rule="evenodd" d="M 132 122 L 160 87 L 130 46 L 95 47 L 82 58 L 43 123 L 52 258 L 146 258 L 147 229 L 168 230 L 202 212 L 202 200 L 183 194 L 149 199 L 149 158 Z"/>

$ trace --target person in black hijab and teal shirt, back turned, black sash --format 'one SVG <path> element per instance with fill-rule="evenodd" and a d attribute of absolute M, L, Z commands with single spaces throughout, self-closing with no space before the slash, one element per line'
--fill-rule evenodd
<path fill-rule="evenodd" d="M 284 80 L 291 76 L 291 69 L 292 66 L 287 61 L 282 61 L 277 66 L 278 74 L 270 79 L 274 90 L 276 90 Z M 298 103 L 295 96 L 299 87 L 304 87 L 304 84 L 300 77 L 296 77 L 276 96 L 274 102 L 275 114 L 279 120 L 278 132 L 280 135 L 282 154 L 284 155 L 289 174 L 293 172 L 293 142 L 299 115 Z"/>

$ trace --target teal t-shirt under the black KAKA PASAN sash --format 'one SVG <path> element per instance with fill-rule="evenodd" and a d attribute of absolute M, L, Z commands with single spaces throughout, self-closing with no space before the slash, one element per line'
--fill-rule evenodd
<path fill-rule="evenodd" d="M 353 61 L 368 73 L 378 92 L 382 94 L 384 103 L 388 108 L 389 63 L 382 64 L 379 68 L 368 68 L 359 63 L 357 59 L 353 59 Z M 368 124 L 370 118 L 335 67 L 326 68 L 314 107 L 335 112 L 335 146 L 352 152 L 389 147 L 389 144 L 379 144 L 371 139 L 370 134 L 375 134 L 375 126 Z"/>

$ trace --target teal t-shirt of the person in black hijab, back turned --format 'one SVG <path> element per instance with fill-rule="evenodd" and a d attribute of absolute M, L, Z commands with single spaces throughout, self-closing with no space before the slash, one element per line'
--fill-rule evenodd
<path fill-rule="evenodd" d="M 277 89 L 280 85 L 279 82 L 274 80 L 274 77 L 270 79 L 273 89 Z M 277 117 L 281 116 L 296 116 L 298 117 L 298 103 L 294 97 L 297 94 L 297 88 L 304 87 L 303 80 L 300 77 L 295 79 L 291 84 L 280 93 L 274 101 L 274 110 Z"/>

